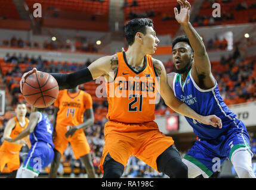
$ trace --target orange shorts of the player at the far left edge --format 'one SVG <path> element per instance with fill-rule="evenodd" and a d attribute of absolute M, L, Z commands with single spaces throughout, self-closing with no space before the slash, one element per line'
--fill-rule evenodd
<path fill-rule="evenodd" d="M 2 149 L 2 148 L 1 148 Z M 4 169 L 5 164 L 7 164 L 8 170 L 13 172 L 20 167 L 20 156 L 19 152 L 11 153 L 8 150 L 0 151 L 0 172 Z"/>

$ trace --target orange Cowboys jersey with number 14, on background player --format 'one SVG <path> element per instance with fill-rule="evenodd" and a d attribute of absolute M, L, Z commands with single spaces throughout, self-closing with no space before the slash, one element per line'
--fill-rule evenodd
<path fill-rule="evenodd" d="M 84 112 L 92 108 L 92 98 L 90 94 L 82 90 L 77 93 L 61 90 L 54 106 L 59 109 L 56 124 L 76 126 L 84 122 Z"/>

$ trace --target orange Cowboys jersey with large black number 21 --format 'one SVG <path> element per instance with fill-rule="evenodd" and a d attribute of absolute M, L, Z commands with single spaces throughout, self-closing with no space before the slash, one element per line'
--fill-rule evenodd
<path fill-rule="evenodd" d="M 155 119 L 156 75 L 152 57 L 146 55 L 142 71 L 128 65 L 125 53 L 119 52 L 118 73 L 106 83 L 109 110 L 107 119 L 125 123 L 141 123 Z"/>

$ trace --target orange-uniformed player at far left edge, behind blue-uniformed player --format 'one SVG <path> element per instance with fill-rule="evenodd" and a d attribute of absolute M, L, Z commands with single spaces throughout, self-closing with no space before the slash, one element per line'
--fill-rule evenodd
<path fill-rule="evenodd" d="M 4 130 L 4 138 L 16 138 L 21 131 L 27 128 L 29 119 L 26 118 L 27 108 L 24 103 L 18 103 L 16 109 L 16 116 L 11 118 Z M 0 171 L 4 169 L 7 164 L 8 170 L 10 170 L 10 178 L 15 178 L 18 167 L 20 167 L 20 150 L 24 144 L 24 141 L 18 141 L 17 143 L 9 143 L 4 141 L 0 148 Z"/>

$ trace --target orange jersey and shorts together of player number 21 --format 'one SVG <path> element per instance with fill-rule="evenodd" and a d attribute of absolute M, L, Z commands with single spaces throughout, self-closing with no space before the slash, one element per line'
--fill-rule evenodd
<path fill-rule="evenodd" d="M 109 153 L 112 159 L 124 166 L 129 156 L 134 155 L 158 170 L 156 158 L 174 141 L 162 134 L 153 121 L 158 81 L 152 57 L 146 55 L 144 68 L 137 72 L 127 64 L 124 52 L 117 53 L 117 56 L 116 78 L 112 83 L 106 83 L 109 122 L 104 128 L 106 144 L 100 169 L 103 171 Z"/>

